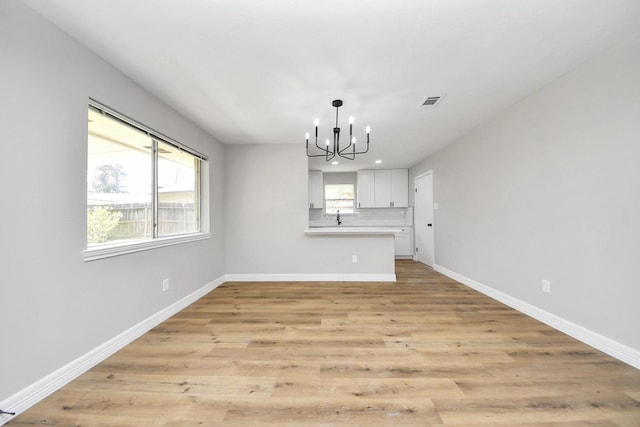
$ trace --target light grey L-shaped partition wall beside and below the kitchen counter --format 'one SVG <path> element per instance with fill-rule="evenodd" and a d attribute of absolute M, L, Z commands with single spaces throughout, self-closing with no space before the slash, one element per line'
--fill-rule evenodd
<path fill-rule="evenodd" d="M 230 145 L 225 167 L 228 274 L 395 274 L 392 236 L 304 234 L 309 217 L 304 146 Z"/>

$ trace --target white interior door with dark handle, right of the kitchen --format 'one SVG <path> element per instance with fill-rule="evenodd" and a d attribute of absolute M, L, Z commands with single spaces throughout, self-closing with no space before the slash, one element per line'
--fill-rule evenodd
<path fill-rule="evenodd" d="M 433 267 L 433 173 L 427 172 L 415 179 L 414 227 L 416 233 L 416 259 Z"/>

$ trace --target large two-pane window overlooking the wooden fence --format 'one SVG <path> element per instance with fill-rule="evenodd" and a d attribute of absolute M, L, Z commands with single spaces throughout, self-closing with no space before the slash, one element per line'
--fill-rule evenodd
<path fill-rule="evenodd" d="M 87 252 L 200 233 L 206 158 L 93 101 L 88 118 Z"/>

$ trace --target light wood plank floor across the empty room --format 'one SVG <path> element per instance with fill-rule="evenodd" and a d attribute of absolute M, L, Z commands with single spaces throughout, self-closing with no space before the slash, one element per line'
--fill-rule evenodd
<path fill-rule="evenodd" d="M 640 426 L 640 371 L 413 261 L 225 283 L 9 425 Z"/>

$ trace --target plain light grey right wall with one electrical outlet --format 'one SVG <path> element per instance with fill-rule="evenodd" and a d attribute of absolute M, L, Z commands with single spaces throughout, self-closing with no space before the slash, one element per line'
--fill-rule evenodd
<path fill-rule="evenodd" d="M 639 165 L 635 42 L 420 162 L 410 183 L 433 170 L 437 265 L 640 351 Z"/>

